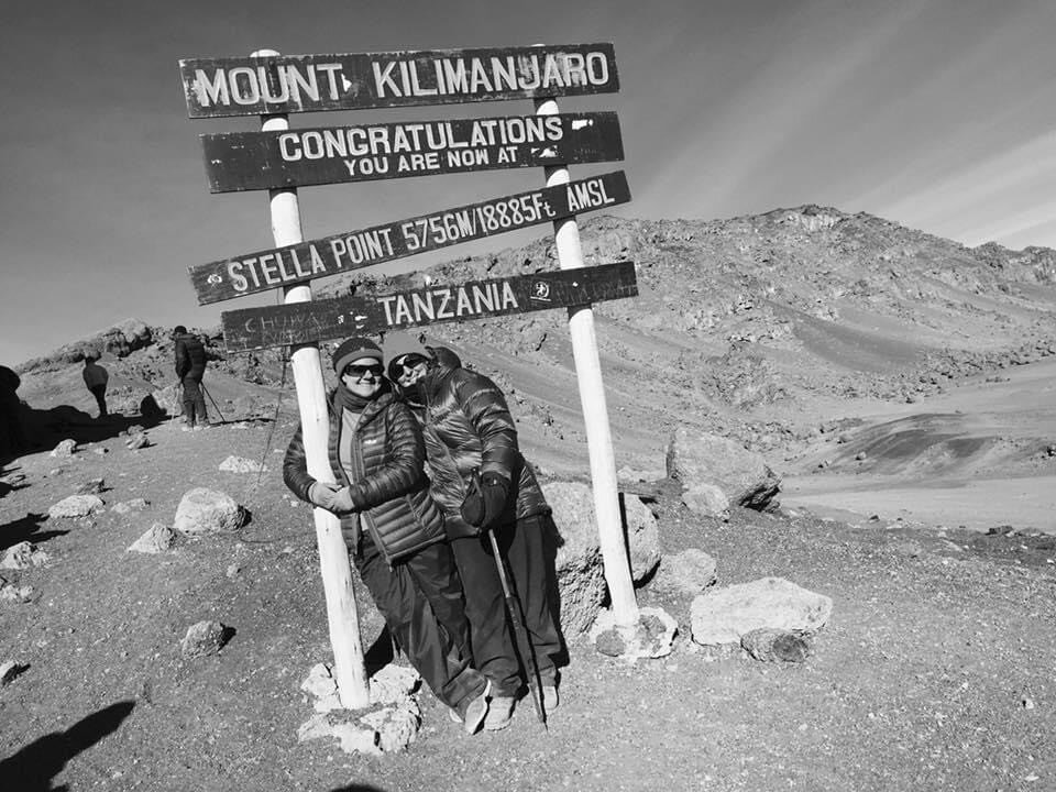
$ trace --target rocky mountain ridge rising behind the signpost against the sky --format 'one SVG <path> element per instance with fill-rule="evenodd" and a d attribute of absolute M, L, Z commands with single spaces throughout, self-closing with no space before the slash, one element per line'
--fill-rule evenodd
<path fill-rule="evenodd" d="M 848 400 L 913 402 L 960 377 L 1056 354 L 1049 249 L 969 249 L 813 205 L 711 221 L 591 217 L 581 235 L 587 265 L 637 264 L 639 296 L 594 307 L 617 458 L 630 466 L 662 464 L 676 426 L 790 455 L 820 431 L 806 403 L 836 420 Z M 546 237 L 428 273 L 331 278 L 317 295 L 557 266 Z M 428 341 L 452 346 L 506 388 L 526 446 L 558 469 L 582 459 L 584 442 L 565 321 L 556 310 L 422 328 Z M 226 355 L 218 330 L 202 334 L 218 402 L 243 413 L 270 408 L 283 351 Z M 112 387 L 127 388 L 131 403 L 143 388 L 172 382 L 168 343 L 167 332 L 129 320 L 20 366 L 20 393 L 31 404 L 65 398 L 48 383 L 63 378 L 80 348 L 96 344 L 110 351 Z M 293 410 L 294 399 L 283 406 Z"/>

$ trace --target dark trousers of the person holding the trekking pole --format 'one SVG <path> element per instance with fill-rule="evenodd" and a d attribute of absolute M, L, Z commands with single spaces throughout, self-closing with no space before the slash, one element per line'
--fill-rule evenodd
<path fill-rule="evenodd" d="M 525 627 L 544 685 L 556 683 L 553 658 L 561 649 L 551 602 L 557 584 L 552 581 L 552 570 L 548 570 L 552 564 L 548 564 L 543 548 L 543 532 L 550 527 L 550 520 L 549 514 L 532 515 L 493 529 L 513 575 L 510 584 L 520 598 Z M 465 588 L 473 664 L 492 681 L 495 695 L 517 696 L 531 669 L 521 670 L 517 659 L 516 636 L 506 615 L 506 597 L 491 540 L 487 534 L 452 539 L 451 549 Z M 525 658 L 525 662 L 530 661 Z"/>

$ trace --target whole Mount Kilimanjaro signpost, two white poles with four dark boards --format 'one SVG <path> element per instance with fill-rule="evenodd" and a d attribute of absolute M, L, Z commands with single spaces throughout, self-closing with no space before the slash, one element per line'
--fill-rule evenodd
<path fill-rule="evenodd" d="M 229 176 L 231 180 L 224 183 L 229 185 L 226 189 L 270 190 L 272 232 L 276 249 L 191 267 L 190 274 L 199 301 L 204 304 L 267 288 L 283 289 L 286 307 L 283 311 L 262 308 L 237 311 L 230 317 L 226 314 L 224 328 L 226 332 L 232 333 L 232 351 L 287 343 L 294 345 L 294 382 L 308 472 L 319 481 L 333 481 L 327 453 L 329 421 L 317 342 L 333 337 L 345 321 L 344 317 L 350 307 L 352 314 L 363 320 L 349 322 L 350 331 L 355 324 L 355 332 L 376 332 L 400 322 L 422 323 L 426 320 L 458 320 L 517 312 L 521 304 L 527 306 L 525 310 L 568 306 L 569 329 L 586 425 L 605 580 L 612 594 L 613 620 L 619 628 L 637 627 L 639 612 L 624 546 L 616 465 L 597 354 L 594 314 L 591 308 L 593 300 L 634 296 L 637 294 L 637 285 L 634 265 L 629 263 L 584 267 L 579 227 L 575 222 L 579 211 L 624 202 L 629 200 L 630 196 L 622 173 L 571 183 L 566 167 L 568 161 L 603 162 L 623 157 L 615 113 L 562 117 L 553 99 L 557 96 L 583 96 L 618 90 L 612 44 L 305 56 L 282 56 L 273 51 L 262 50 L 248 58 L 182 61 L 180 72 L 190 118 L 249 114 L 262 117 L 258 134 L 204 135 L 202 145 L 207 172 L 215 191 L 220 185 L 219 179 Z M 538 127 L 547 131 L 552 140 L 538 141 L 541 146 L 539 152 L 534 152 L 531 142 L 526 139 L 525 144 L 528 147 L 525 148 L 524 156 L 517 154 L 520 162 L 546 165 L 547 186 L 542 191 L 507 196 L 431 217 L 400 221 L 398 235 L 396 224 L 389 224 L 305 243 L 296 187 L 300 184 L 320 184 L 330 179 L 330 176 L 320 178 L 318 173 L 297 168 L 284 169 L 280 176 L 264 175 L 265 172 L 276 172 L 273 164 L 275 161 L 270 158 L 272 155 L 267 153 L 271 151 L 268 146 L 279 146 L 278 151 L 283 154 L 282 145 L 286 142 L 288 148 L 290 140 L 318 139 L 323 143 L 331 141 L 333 146 L 343 141 L 348 146 L 355 146 L 363 141 L 381 144 L 383 139 L 389 140 L 388 135 L 393 135 L 395 140 L 399 133 L 408 140 L 417 140 L 415 145 L 421 141 L 431 145 L 430 141 L 440 140 L 439 130 L 443 130 L 444 140 L 452 146 L 462 140 L 455 134 L 455 127 L 446 122 L 432 122 L 436 124 L 435 138 L 430 138 L 429 129 L 425 124 L 417 125 L 421 127 L 421 130 L 417 130 L 414 124 L 315 129 L 308 131 L 308 136 L 292 138 L 285 116 L 288 112 L 508 99 L 534 99 L 536 116 L 527 119 L 514 118 L 502 123 L 502 120 L 496 119 L 452 123 L 460 124 L 460 129 L 464 127 L 470 130 L 506 127 L 531 130 Z M 539 123 L 532 124 L 532 118 L 539 119 Z M 593 130 L 593 136 L 583 138 L 586 130 Z M 543 154 L 542 148 L 549 144 L 561 142 L 563 145 L 564 141 L 569 141 L 566 148 L 550 147 L 566 152 L 566 158 L 556 157 L 550 151 Z M 385 144 L 388 145 L 387 142 Z M 514 144 L 519 144 L 519 141 Z M 444 146 L 439 146 L 441 151 L 437 152 L 438 160 L 443 148 Z M 289 160 L 292 155 L 287 155 L 288 152 L 283 154 Z M 420 155 L 425 157 L 426 153 Z M 503 166 L 506 166 L 506 163 L 503 163 Z M 474 166 L 470 169 L 481 168 Z M 426 173 L 429 168 L 420 170 Z M 406 175 L 419 174 L 415 172 Z M 531 217 L 514 220 L 510 207 L 542 207 L 548 200 L 552 200 L 554 206 L 547 204 L 546 212 L 540 210 Z M 510 222 L 506 226 L 495 223 L 495 227 L 491 228 L 486 221 L 488 212 L 495 217 L 498 217 L 499 212 L 504 217 L 509 212 Z M 482 220 L 480 227 L 474 218 Z M 416 231 L 419 220 L 422 221 L 420 233 Z M 356 301 L 351 306 L 328 305 L 318 318 L 312 317 L 311 310 L 306 314 L 297 307 L 297 304 L 311 300 L 311 288 L 308 285 L 310 279 L 336 274 L 337 270 L 342 268 L 339 249 L 342 244 L 346 245 L 349 240 L 362 242 L 370 239 L 381 240 L 384 237 L 386 242 L 384 245 L 378 243 L 377 255 L 373 260 L 351 260 L 354 264 L 349 266 L 351 270 L 549 220 L 553 222 L 562 272 L 560 275 L 553 273 L 550 276 L 540 273 L 536 276 L 538 284 L 528 284 L 537 287 L 538 294 L 552 293 L 554 299 L 548 304 L 518 297 L 518 290 L 526 286 L 521 283 L 525 278 L 509 278 L 502 283 L 480 282 L 472 288 L 472 294 L 480 305 L 474 304 L 476 307 L 464 314 L 454 311 L 450 317 L 446 317 L 442 309 L 433 309 L 429 304 L 428 316 L 424 312 L 411 316 L 408 310 L 408 317 L 400 318 L 397 316 L 398 311 L 389 309 L 389 302 L 394 306 L 400 305 L 399 300 L 405 298 L 402 295 L 378 297 L 374 304 Z M 441 224 L 444 222 L 453 223 L 450 228 L 458 233 L 448 233 Z M 394 240 L 397 244 L 393 244 Z M 330 246 L 332 253 L 329 258 L 319 253 L 320 250 L 326 250 L 326 246 Z M 470 294 L 469 288 L 463 289 L 460 285 L 452 285 L 448 290 L 452 289 L 458 294 Z M 501 294 L 504 296 L 499 297 Z M 417 305 L 416 295 L 407 295 L 406 299 Z M 426 305 L 425 299 L 421 298 L 422 305 Z M 442 295 L 438 299 L 442 299 Z M 455 301 L 455 306 L 458 305 Z M 381 312 L 372 310 L 377 306 L 382 307 Z M 320 309 L 323 309 L 322 305 Z M 286 323 L 280 326 L 279 322 Z M 364 322 L 371 323 L 371 327 Z M 340 700 L 348 708 L 365 707 L 370 703 L 370 690 L 363 664 L 351 568 L 340 522 L 334 515 L 321 508 L 314 509 L 314 518 Z"/>

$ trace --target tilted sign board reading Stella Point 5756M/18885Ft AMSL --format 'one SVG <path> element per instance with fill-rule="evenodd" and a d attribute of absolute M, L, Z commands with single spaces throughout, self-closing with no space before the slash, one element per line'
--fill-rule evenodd
<path fill-rule="evenodd" d="M 266 292 L 630 200 L 623 170 L 190 267 L 199 305 Z"/>

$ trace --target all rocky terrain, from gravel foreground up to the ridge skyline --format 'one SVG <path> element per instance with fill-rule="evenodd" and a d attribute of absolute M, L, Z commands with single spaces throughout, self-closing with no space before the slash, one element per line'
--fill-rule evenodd
<path fill-rule="evenodd" d="M 403 754 L 299 743 L 314 714 L 300 684 L 330 648 L 310 514 L 278 473 L 295 415 L 282 358 L 228 358 L 211 337 L 222 425 L 152 426 L 138 410 L 146 395 L 174 406 L 170 349 L 161 328 L 131 321 L 18 367 L 37 448 L 0 476 L 0 550 L 29 540 L 47 559 L 0 570 L 0 663 L 13 663 L 0 779 L 30 769 L 25 789 L 73 791 L 1056 788 L 1053 252 L 969 251 L 818 207 L 600 218 L 584 244 L 591 263 L 639 263 L 640 297 L 595 311 L 617 466 L 646 480 L 628 496 L 656 514 L 664 559 L 715 559 L 716 586 L 780 576 L 831 597 L 805 661 L 705 650 L 693 596 L 657 576 L 638 600 L 678 620 L 671 654 L 628 664 L 571 639 L 549 732 L 522 703 L 506 732 L 466 737 L 422 693 L 422 730 Z M 550 256 L 540 242 L 441 273 L 526 272 Z M 386 284 L 358 286 L 374 287 Z M 503 385 L 547 481 L 587 479 L 561 312 L 429 339 Z M 127 418 L 89 418 L 75 362 L 88 345 L 108 350 L 111 405 Z M 134 424 L 146 426 L 140 449 L 124 433 Z M 761 453 L 783 479 L 782 507 L 728 520 L 688 508 L 664 477 L 680 427 Z M 77 451 L 52 458 L 67 436 Z M 268 470 L 221 471 L 231 454 Z M 102 510 L 47 516 L 97 479 Z M 223 490 L 250 521 L 127 551 L 170 526 L 195 486 Z M 184 657 L 202 620 L 227 626 L 227 642 Z"/>

